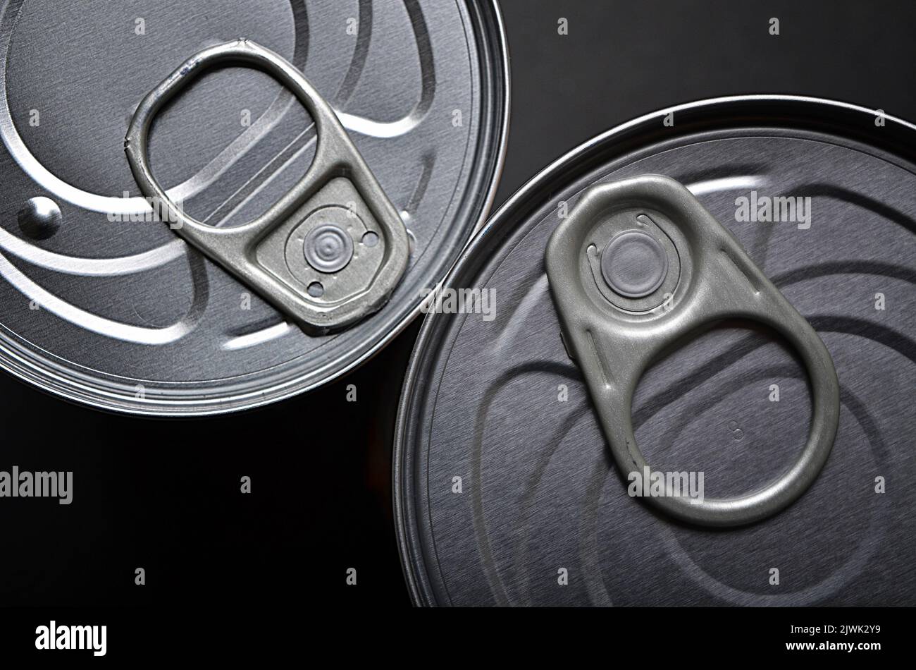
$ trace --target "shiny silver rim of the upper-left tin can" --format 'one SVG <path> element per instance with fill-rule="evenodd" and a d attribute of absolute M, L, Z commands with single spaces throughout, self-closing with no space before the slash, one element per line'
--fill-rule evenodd
<path fill-rule="evenodd" d="M 496 199 L 496 190 L 499 186 L 506 159 L 511 104 L 508 38 L 499 2 L 498 0 L 465 0 L 465 3 L 477 26 L 480 27 L 478 35 L 481 36 L 481 53 L 488 53 L 494 60 L 494 67 L 491 71 L 487 72 L 485 68 L 482 68 L 484 76 L 487 79 L 499 82 L 500 85 L 493 89 L 498 94 L 498 97 L 491 107 L 491 112 L 496 117 L 497 123 L 482 128 L 482 138 L 478 140 L 483 142 L 485 146 L 494 149 L 491 154 L 492 159 L 488 161 L 490 165 L 482 173 L 486 188 L 476 196 L 479 202 L 479 213 L 475 217 L 474 225 L 469 226 L 470 233 L 467 240 L 460 247 L 455 261 L 453 261 L 448 271 L 451 271 L 458 259 L 462 258 L 463 249 L 483 229 Z M 498 62 L 496 62 L 497 60 Z M 486 86 L 482 88 L 488 90 Z M 492 144 L 485 139 L 487 133 L 490 137 L 496 138 L 496 141 L 492 142 Z M 163 419 L 245 412 L 267 404 L 288 400 L 293 396 L 315 390 L 344 377 L 354 369 L 361 367 L 372 357 L 375 357 L 385 346 L 400 335 L 409 324 L 413 323 L 418 314 L 420 314 L 421 309 L 422 302 L 418 298 L 414 307 L 405 313 L 402 318 L 398 319 L 397 323 L 389 328 L 386 333 L 378 337 L 371 346 L 365 347 L 364 351 L 344 366 L 333 369 L 327 374 L 322 374 L 321 369 L 318 369 L 305 376 L 299 375 L 280 384 L 275 384 L 269 390 L 244 390 L 242 392 L 234 392 L 229 396 L 216 398 L 185 399 L 181 401 L 147 398 L 143 404 L 126 403 L 121 394 L 86 383 L 83 378 L 91 379 L 93 376 L 85 371 L 68 369 L 67 374 L 64 375 L 61 374 L 59 366 L 53 360 L 46 358 L 41 358 L 40 364 L 36 365 L 33 360 L 37 357 L 27 349 L 17 347 L 15 342 L 18 335 L 2 324 L 0 324 L 0 330 L 5 331 L 5 333 L 0 334 L 0 368 L 3 368 L 5 372 L 16 379 L 26 381 L 31 386 L 52 396 L 105 412 Z M 332 366 L 333 362 L 324 367 L 330 369 Z M 79 365 L 75 367 L 80 368 Z M 310 380 L 302 383 L 303 377 Z"/>

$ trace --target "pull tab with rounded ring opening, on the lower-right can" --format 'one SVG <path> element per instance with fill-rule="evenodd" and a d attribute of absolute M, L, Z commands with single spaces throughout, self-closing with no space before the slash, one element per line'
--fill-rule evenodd
<path fill-rule="evenodd" d="M 700 500 L 666 490 L 649 497 L 651 504 L 685 522 L 736 526 L 775 514 L 811 486 L 839 422 L 833 359 L 811 324 L 681 183 L 644 175 L 593 186 L 554 230 L 545 260 L 566 343 L 625 475 L 651 473 L 633 434 L 638 380 L 684 336 L 725 319 L 756 321 L 784 336 L 807 368 L 812 425 L 783 475 L 736 498 Z"/>

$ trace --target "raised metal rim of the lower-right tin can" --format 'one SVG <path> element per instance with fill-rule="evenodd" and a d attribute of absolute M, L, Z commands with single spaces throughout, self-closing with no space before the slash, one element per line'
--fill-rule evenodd
<path fill-rule="evenodd" d="M 843 118 L 839 121 L 829 119 L 823 114 L 825 109 Z M 740 111 L 745 111 L 746 115 L 724 116 L 727 113 Z M 767 111 L 767 114 L 761 115 L 761 112 L 764 111 Z M 631 146 L 643 144 L 646 139 L 645 133 L 650 128 L 657 128 L 660 119 L 672 113 L 686 114 L 691 122 L 714 124 L 716 128 L 723 127 L 723 121 L 725 121 L 725 127 L 747 127 L 754 118 L 757 118 L 758 121 L 763 118 L 769 119 L 769 125 L 773 125 L 774 120 L 781 121 L 782 125 L 802 122 L 802 126 L 807 125 L 822 131 L 833 130 L 834 133 L 839 132 L 847 137 L 870 140 L 872 144 L 885 148 L 893 154 L 900 154 L 904 149 L 902 143 L 898 144 L 893 140 L 903 137 L 910 140 L 911 153 L 916 154 L 916 141 L 913 141 L 916 138 L 916 125 L 898 116 L 888 115 L 883 110 L 868 109 L 858 104 L 813 96 L 760 93 L 727 95 L 672 105 L 613 126 L 551 161 L 500 205 L 486 225 L 464 247 L 460 258 L 437 288 L 453 287 L 468 271 L 473 272 L 476 268 L 474 258 L 484 257 L 491 245 L 499 244 L 501 238 L 498 233 L 504 232 L 504 229 L 510 228 L 520 218 L 524 218 L 537 209 L 543 202 L 544 193 L 557 192 L 558 189 L 552 187 L 558 182 L 574 181 L 584 172 L 591 170 L 596 163 L 605 162 L 608 159 L 608 153 L 623 155 Z M 874 129 L 878 126 L 871 121 L 878 116 L 885 121 L 882 131 L 889 131 L 885 134 L 892 137 L 875 135 Z M 868 123 L 853 126 L 849 123 L 853 118 L 868 121 Z M 696 126 L 688 123 L 686 128 L 681 126 L 680 130 L 676 130 L 676 134 L 671 137 L 690 134 L 697 129 Z M 609 144 L 614 145 L 610 151 L 607 150 Z M 573 161 L 578 162 L 576 170 L 569 169 Z M 417 524 L 412 519 L 416 511 L 413 509 L 415 507 L 413 485 L 407 479 L 410 474 L 407 459 L 416 456 L 409 443 L 411 436 L 409 434 L 416 410 L 417 391 L 421 388 L 423 381 L 421 379 L 422 370 L 425 368 L 423 364 L 431 353 L 431 346 L 435 344 L 436 336 L 440 335 L 442 329 L 446 327 L 451 314 L 439 314 L 439 316 L 442 318 L 437 319 L 435 312 L 426 314 L 420 327 L 420 334 L 410 354 L 398 400 L 398 415 L 395 421 L 392 448 L 392 502 L 398 554 L 401 559 L 404 581 L 415 606 L 437 604 L 431 592 L 425 562 L 422 562 L 422 550 L 417 538 Z"/>

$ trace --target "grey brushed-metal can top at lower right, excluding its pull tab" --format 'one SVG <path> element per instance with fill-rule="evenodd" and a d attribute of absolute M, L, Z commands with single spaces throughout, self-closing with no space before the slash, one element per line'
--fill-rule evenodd
<path fill-rule="evenodd" d="M 829 456 L 797 497 L 758 518 L 718 524 L 725 527 L 685 521 L 644 499 L 630 478 L 638 473 L 627 472 L 636 468 L 623 461 L 645 456 L 659 472 L 704 474 L 707 503 L 752 498 L 761 484 L 791 477 L 812 417 L 830 404 L 822 397 L 830 385 L 815 379 L 827 368 L 806 374 L 791 331 L 780 336 L 741 319 L 686 334 L 638 386 L 634 380 L 631 407 L 620 416 L 632 423 L 635 443 L 622 459 L 608 448 L 618 426 L 605 405 L 625 386 L 616 377 L 627 356 L 597 339 L 589 348 L 586 335 L 596 331 L 572 341 L 584 322 L 564 303 L 568 287 L 556 274 L 569 217 L 596 193 L 632 193 L 647 179 L 683 184 L 686 191 L 671 192 L 702 205 L 697 211 L 730 233 L 719 242 L 723 262 L 740 265 L 746 254 L 747 268 L 761 270 L 760 283 L 745 268 L 736 285 L 754 296 L 752 285 L 766 291 L 772 282 L 832 358 L 838 412 Z M 595 212 L 599 224 L 613 214 Z M 642 225 L 660 239 L 653 217 L 634 221 L 630 235 Z M 443 293 L 486 294 L 489 309 L 443 302 L 411 357 L 394 504 L 414 602 L 916 603 L 916 500 L 908 485 L 916 475 L 914 232 L 916 126 L 851 104 L 769 95 L 684 104 L 618 126 L 541 171 L 443 284 Z M 572 282 L 592 280 L 582 248 L 582 274 Z M 617 247 L 612 240 L 603 249 L 599 257 Z M 637 275 L 655 263 L 639 258 Z M 667 281 L 671 265 L 661 267 Z M 594 270 L 591 291 L 613 285 L 603 270 Z M 648 293 L 629 296 L 624 286 L 606 313 L 614 301 L 662 295 L 649 283 Z M 644 312 L 618 310 L 627 318 Z M 638 344 L 628 345 L 634 356 Z M 604 379 L 595 381 L 589 357 L 621 365 L 600 369 Z M 602 390 L 610 391 L 595 401 Z"/>

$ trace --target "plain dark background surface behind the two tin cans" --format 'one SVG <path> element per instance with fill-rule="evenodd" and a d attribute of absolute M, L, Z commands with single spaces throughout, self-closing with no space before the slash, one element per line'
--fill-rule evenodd
<path fill-rule="evenodd" d="M 911 0 L 502 6 L 513 108 L 497 203 L 583 140 L 704 97 L 797 93 L 916 120 Z M 322 390 L 216 419 L 104 414 L 0 375 L 2 462 L 72 470 L 75 491 L 69 507 L 3 500 L 0 605 L 408 606 L 390 457 L 418 326 Z M 251 495 L 239 493 L 243 475 Z"/>

